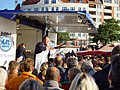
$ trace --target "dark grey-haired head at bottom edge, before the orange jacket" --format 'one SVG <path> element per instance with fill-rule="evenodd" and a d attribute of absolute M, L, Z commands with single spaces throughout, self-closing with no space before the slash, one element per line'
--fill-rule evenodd
<path fill-rule="evenodd" d="M 44 90 L 43 86 L 34 79 L 26 79 L 20 86 L 19 90 Z"/>

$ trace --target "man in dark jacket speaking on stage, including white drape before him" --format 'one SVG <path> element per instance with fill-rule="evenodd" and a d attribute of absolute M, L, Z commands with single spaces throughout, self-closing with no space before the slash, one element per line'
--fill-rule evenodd
<path fill-rule="evenodd" d="M 47 62 L 50 56 L 50 39 L 48 36 L 45 36 L 42 42 L 38 42 L 35 47 L 35 68 L 40 70 L 42 63 Z"/>

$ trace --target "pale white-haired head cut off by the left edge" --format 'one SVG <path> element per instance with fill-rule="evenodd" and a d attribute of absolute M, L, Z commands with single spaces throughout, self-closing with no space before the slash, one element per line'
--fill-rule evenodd
<path fill-rule="evenodd" d="M 0 68 L 0 87 L 5 87 L 8 75 L 5 69 Z"/>

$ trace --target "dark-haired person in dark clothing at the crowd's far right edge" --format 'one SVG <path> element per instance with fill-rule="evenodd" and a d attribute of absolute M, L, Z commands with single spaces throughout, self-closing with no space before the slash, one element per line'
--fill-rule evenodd
<path fill-rule="evenodd" d="M 120 90 L 120 45 L 112 50 L 109 81 L 111 87 L 108 90 Z"/>

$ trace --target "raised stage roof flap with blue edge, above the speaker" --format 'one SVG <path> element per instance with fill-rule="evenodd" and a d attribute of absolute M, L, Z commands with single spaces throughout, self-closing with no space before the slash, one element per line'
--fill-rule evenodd
<path fill-rule="evenodd" d="M 51 32 L 97 33 L 95 22 L 86 11 L 1 10 L 0 16 Z"/>

